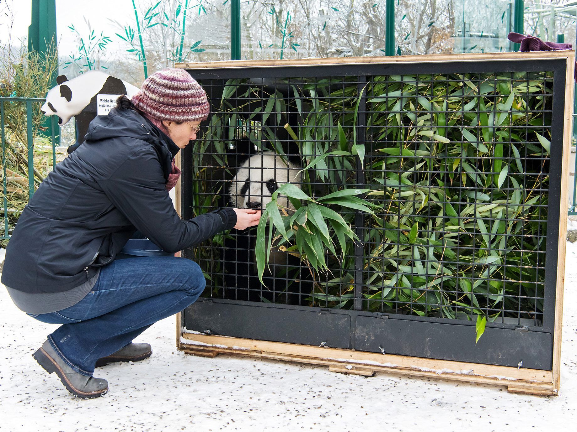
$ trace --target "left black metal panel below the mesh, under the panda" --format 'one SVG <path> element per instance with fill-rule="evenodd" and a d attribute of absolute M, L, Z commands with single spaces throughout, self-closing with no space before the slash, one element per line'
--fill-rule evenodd
<path fill-rule="evenodd" d="M 185 327 L 233 338 L 351 348 L 351 317 L 339 312 L 199 299 L 185 309 Z"/>

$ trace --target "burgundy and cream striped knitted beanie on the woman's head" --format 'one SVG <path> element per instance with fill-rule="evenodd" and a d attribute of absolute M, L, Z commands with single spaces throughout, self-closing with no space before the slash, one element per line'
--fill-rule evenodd
<path fill-rule="evenodd" d="M 207 93 L 182 69 L 163 69 L 145 79 L 132 104 L 153 119 L 171 122 L 206 120 Z"/>

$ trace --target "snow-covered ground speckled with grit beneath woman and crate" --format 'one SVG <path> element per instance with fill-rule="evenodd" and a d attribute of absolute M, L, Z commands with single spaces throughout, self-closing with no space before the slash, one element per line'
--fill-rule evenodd
<path fill-rule="evenodd" d="M 324 366 L 231 355 L 194 357 L 176 350 L 170 317 L 135 341 L 152 344 L 151 358 L 96 369 L 96 376 L 110 383 L 110 391 L 98 399 L 75 399 L 31 356 L 55 325 L 20 312 L 0 287 L 0 430 L 575 430 L 575 264 L 577 244 L 568 243 L 557 397 L 388 373 L 347 376 Z"/>

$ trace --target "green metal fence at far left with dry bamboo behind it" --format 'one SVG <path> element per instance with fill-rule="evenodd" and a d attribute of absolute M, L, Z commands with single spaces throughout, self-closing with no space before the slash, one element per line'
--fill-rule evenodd
<path fill-rule="evenodd" d="M 0 241 L 12 229 L 47 173 L 57 164 L 58 123 L 44 118 L 40 107 L 46 99 L 0 97 L 2 140 L 2 230 Z M 46 135 L 45 124 L 51 126 Z"/>

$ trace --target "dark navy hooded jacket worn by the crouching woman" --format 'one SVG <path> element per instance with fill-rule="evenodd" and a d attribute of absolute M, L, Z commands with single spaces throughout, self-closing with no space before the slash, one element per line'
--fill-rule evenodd
<path fill-rule="evenodd" d="M 114 260 L 136 229 L 177 252 L 232 228 L 233 209 L 178 216 L 165 187 L 178 150 L 132 109 L 96 117 L 83 145 L 55 166 L 18 219 L 2 283 L 25 293 L 68 291 Z"/>

